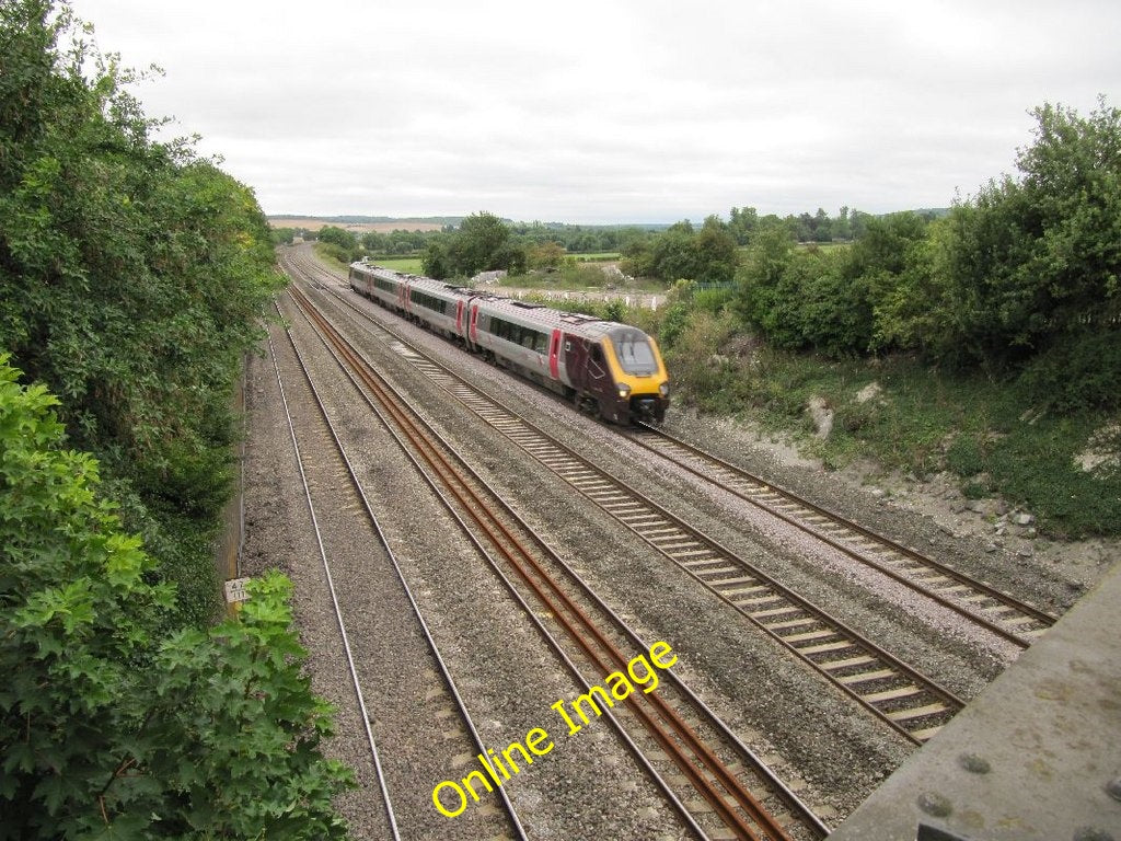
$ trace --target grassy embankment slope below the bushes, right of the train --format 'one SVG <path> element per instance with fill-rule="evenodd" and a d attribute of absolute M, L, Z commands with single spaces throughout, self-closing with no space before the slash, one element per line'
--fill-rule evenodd
<path fill-rule="evenodd" d="M 711 313 L 688 317 L 667 362 L 679 398 L 793 433 L 826 468 L 871 459 L 918 479 L 949 471 L 966 497 L 999 495 L 1053 537 L 1121 534 L 1121 468 L 1087 472 L 1076 462 L 1095 431 L 1117 424 L 1113 415 L 1041 413 L 1015 379 L 939 372 L 909 358 L 832 361 L 776 351 L 731 316 Z M 882 391 L 859 401 L 871 382 Z M 824 441 L 807 416 L 810 397 L 835 413 Z M 1118 437 L 1108 444 L 1114 454 Z"/>

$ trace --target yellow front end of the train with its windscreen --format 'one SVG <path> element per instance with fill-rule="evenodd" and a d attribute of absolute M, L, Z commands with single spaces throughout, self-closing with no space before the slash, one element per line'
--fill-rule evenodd
<path fill-rule="evenodd" d="M 615 380 L 615 419 L 660 423 L 669 407 L 669 376 L 658 343 L 638 327 L 617 324 L 603 344 Z"/>

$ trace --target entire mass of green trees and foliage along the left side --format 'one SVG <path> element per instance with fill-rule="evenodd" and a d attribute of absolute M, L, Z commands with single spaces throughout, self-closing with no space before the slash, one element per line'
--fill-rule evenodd
<path fill-rule="evenodd" d="M 284 583 L 210 627 L 266 220 L 84 31 L 0 4 L 0 837 L 340 837 Z"/>

